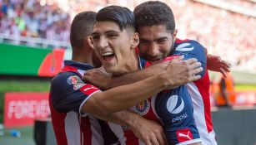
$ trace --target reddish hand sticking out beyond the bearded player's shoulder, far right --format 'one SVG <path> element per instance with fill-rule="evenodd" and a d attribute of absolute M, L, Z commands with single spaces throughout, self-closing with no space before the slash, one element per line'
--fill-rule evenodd
<path fill-rule="evenodd" d="M 220 72 L 225 78 L 227 76 L 226 73 L 230 72 L 230 64 L 219 56 L 208 55 L 207 68 L 208 70 Z"/>

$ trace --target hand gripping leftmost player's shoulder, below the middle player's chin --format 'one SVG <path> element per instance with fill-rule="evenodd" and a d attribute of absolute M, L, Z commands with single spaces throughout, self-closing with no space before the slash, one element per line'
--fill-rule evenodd
<path fill-rule="evenodd" d="M 88 70 L 84 75 L 83 75 L 83 80 L 88 81 L 92 85 L 97 86 L 100 89 L 109 89 L 109 83 L 111 82 L 111 77 L 104 74 L 102 70 L 98 69 L 93 69 L 93 70 Z"/>

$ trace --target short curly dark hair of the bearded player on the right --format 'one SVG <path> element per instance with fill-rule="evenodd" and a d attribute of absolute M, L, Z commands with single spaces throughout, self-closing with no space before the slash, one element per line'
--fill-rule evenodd
<path fill-rule="evenodd" d="M 159 1 L 143 2 L 134 8 L 135 28 L 165 25 L 166 29 L 173 31 L 175 21 L 173 11 L 167 4 Z"/>

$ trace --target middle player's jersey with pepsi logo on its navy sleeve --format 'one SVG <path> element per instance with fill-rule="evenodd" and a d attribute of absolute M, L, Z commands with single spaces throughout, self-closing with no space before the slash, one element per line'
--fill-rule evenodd
<path fill-rule="evenodd" d="M 172 60 L 172 58 L 168 57 L 165 60 Z M 141 69 L 148 65 L 147 61 L 139 58 Z M 165 90 L 133 106 L 130 110 L 144 118 L 163 123 L 169 145 L 200 142 L 198 129 L 193 119 L 193 105 L 185 85 L 176 89 Z M 144 144 L 135 137 L 129 128 L 114 123 L 109 123 L 109 126 L 122 145 Z"/>

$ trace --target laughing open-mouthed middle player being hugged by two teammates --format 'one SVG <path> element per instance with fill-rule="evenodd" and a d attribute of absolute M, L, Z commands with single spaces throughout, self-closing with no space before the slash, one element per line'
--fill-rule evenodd
<path fill-rule="evenodd" d="M 111 75 L 123 75 L 149 65 L 149 62 L 141 59 L 136 53 L 138 33 L 134 28 L 133 12 L 126 7 L 109 6 L 101 9 L 96 16 L 92 39 L 93 48 L 103 63 L 104 70 Z M 195 46 L 197 47 L 193 53 L 203 53 L 203 56 L 198 58 L 206 62 L 203 46 L 197 43 Z M 168 57 L 164 61 L 172 59 Z M 203 74 L 204 72 L 200 73 Z M 155 81 L 155 85 L 157 84 L 158 81 Z M 130 110 L 144 118 L 162 122 L 169 145 L 201 142 L 193 119 L 192 101 L 185 85 L 166 89 L 151 99 L 143 100 Z M 113 123 L 109 123 L 109 126 L 121 144 L 143 144 L 129 128 Z"/>

